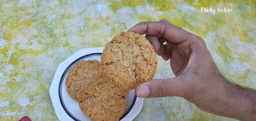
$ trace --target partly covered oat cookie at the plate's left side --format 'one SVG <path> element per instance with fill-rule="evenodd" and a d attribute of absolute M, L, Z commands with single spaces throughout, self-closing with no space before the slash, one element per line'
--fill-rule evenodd
<path fill-rule="evenodd" d="M 98 60 L 87 60 L 77 63 L 69 71 L 66 86 L 71 98 L 81 101 L 81 93 L 87 87 L 89 82 L 100 78 L 103 75 Z"/>

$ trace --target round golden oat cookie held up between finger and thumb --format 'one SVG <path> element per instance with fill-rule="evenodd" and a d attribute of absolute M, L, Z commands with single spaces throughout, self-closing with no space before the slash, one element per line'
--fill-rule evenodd
<path fill-rule="evenodd" d="M 122 32 L 106 44 L 101 65 L 107 78 L 123 89 L 132 90 L 154 77 L 157 59 L 145 37 Z"/>

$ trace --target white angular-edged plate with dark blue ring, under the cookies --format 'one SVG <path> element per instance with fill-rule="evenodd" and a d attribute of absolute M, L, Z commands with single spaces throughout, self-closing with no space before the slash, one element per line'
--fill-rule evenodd
<path fill-rule="evenodd" d="M 69 70 L 81 60 L 100 61 L 104 47 L 82 49 L 71 55 L 58 66 L 49 90 L 51 101 L 57 117 L 64 120 L 90 120 L 81 109 L 78 102 L 73 100 L 67 92 L 66 78 Z M 135 95 L 135 90 L 130 90 L 127 97 L 128 107 L 125 108 L 121 121 L 132 120 L 141 111 L 143 98 Z"/>

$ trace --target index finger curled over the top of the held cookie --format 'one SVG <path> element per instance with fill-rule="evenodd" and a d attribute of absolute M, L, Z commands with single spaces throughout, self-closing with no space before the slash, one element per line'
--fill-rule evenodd
<path fill-rule="evenodd" d="M 195 36 L 190 32 L 164 21 L 140 22 L 128 31 L 132 31 L 140 35 L 149 34 L 161 36 L 174 43 L 181 43 L 188 40 L 191 35 Z"/>

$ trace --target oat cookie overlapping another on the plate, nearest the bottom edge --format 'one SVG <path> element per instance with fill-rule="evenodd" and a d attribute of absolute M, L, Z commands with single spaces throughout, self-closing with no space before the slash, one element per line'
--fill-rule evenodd
<path fill-rule="evenodd" d="M 127 107 L 128 91 L 122 90 L 107 78 L 99 78 L 83 91 L 79 106 L 92 121 L 119 120 Z"/>

